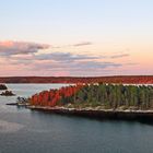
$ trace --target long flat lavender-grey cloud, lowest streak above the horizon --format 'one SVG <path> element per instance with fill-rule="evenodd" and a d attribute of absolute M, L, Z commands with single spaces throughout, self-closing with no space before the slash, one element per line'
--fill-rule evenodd
<path fill-rule="evenodd" d="M 96 73 L 108 68 L 121 67 L 121 63 L 98 62 L 98 61 L 74 61 L 74 62 L 38 62 L 32 69 L 46 71 L 69 71 L 69 72 L 90 72 Z"/>

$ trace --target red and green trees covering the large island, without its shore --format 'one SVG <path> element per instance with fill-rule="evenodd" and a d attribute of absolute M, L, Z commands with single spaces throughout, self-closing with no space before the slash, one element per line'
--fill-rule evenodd
<path fill-rule="evenodd" d="M 67 86 L 33 95 L 31 105 L 152 109 L 153 86 L 101 83 Z"/>

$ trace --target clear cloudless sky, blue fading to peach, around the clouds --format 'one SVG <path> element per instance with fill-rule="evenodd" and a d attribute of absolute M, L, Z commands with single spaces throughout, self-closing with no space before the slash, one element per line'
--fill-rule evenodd
<path fill-rule="evenodd" d="M 152 74 L 153 1 L 1 0 L 0 42 L 3 40 L 47 44 L 59 47 L 50 48 L 50 51 L 70 52 L 73 56 L 108 57 L 119 54 L 117 56 L 121 57 L 126 54 L 129 55 L 127 59 L 98 59 L 98 62 L 113 62 L 122 67 L 118 68 L 119 73 L 106 70 L 106 73 L 98 72 L 97 75 Z M 72 48 L 80 43 L 92 45 Z M 0 59 L 3 63 L 3 57 Z M 14 63 L 13 57 L 9 59 Z M 12 72 L 5 74 L 14 74 L 15 69 L 12 68 Z M 70 73 L 75 74 L 75 71 Z M 91 75 L 89 72 L 83 74 Z"/>

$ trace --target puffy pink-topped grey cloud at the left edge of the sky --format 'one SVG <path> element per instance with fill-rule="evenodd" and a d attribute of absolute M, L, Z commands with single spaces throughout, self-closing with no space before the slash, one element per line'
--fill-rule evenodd
<path fill-rule="evenodd" d="M 28 55 L 48 49 L 49 45 L 25 42 L 0 42 L 0 56 Z"/>

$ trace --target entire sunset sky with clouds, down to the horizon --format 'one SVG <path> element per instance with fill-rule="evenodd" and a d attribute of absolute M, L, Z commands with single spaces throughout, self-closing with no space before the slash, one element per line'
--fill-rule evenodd
<path fill-rule="evenodd" d="M 152 0 L 0 0 L 0 76 L 148 74 Z"/>

